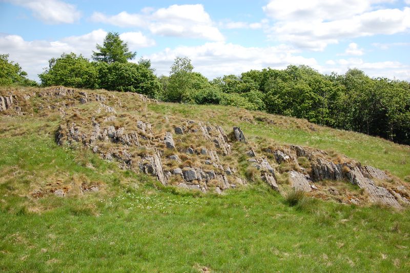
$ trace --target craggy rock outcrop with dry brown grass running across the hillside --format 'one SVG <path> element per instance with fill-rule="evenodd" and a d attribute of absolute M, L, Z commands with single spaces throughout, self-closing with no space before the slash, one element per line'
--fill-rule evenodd
<path fill-rule="evenodd" d="M 393 178 L 372 166 L 347 158 L 334 162 L 326 152 L 302 146 L 262 149 L 247 140 L 237 126 L 226 133 L 221 126 L 202 121 L 170 121 L 162 117 L 153 123 L 147 114 L 138 114 L 138 109 L 126 114 L 127 108 L 114 94 L 53 87 L 38 93 L 0 96 L 0 111 L 29 114 L 32 109 L 20 107 L 19 102 L 38 97 L 42 101 L 38 111 L 58 111 L 61 116 L 55 132 L 59 145 L 83 146 L 101 158 L 116 160 L 121 168 L 153 175 L 163 185 L 219 194 L 246 185 L 249 179 L 239 169 L 243 157 L 238 154 L 240 149 L 233 150 L 243 147 L 248 150 L 243 164 L 256 169 L 256 179 L 274 190 L 290 186 L 315 196 L 315 192 L 323 192 L 323 181 L 346 181 L 357 185 L 367 196 L 367 200 L 355 196 L 344 200 L 346 203 L 368 201 L 396 208 L 410 203 L 407 185 L 383 186 Z M 129 96 L 141 107 L 157 103 L 144 95 Z M 89 107 L 79 108 L 87 104 Z M 309 168 L 300 166 L 301 158 L 309 162 Z M 284 164 L 292 168 L 280 170 Z M 288 183 L 278 181 L 278 175 L 283 174 Z M 55 194 L 64 196 L 64 192 Z"/>

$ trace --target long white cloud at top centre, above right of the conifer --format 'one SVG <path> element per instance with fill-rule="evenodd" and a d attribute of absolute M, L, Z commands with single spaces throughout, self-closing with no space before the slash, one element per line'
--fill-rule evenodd
<path fill-rule="evenodd" d="M 148 28 L 153 34 L 162 36 L 224 40 L 222 33 L 200 4 L 172 5 L 158 10 L 144 9 L 141 13 L 133 14 L 123 11 L 111 16 L 94 12 L 91 20 L 119 27 Z"/>

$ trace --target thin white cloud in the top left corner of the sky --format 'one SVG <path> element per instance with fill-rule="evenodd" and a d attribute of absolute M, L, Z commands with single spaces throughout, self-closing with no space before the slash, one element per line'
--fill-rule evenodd
<path fill-rule="evenodd" d="M 30 9 L 34 17 L 47 24 L 72 24 L 81 17 L 74 5 L 59 0 L 8 0 L 8 2 Z"/>

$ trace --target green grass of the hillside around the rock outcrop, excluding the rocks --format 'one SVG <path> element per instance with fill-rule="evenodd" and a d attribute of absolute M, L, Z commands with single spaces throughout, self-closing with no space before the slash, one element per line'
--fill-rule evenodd
<path fill-rule="evenodd" d="M 371 136 L 232 107 L 141 104 L 132 94 L 115 96 L 126 108 L 118 115 L 210 121 L 226 131 L 239 125 L 254 143 L 316 147 L 402 181 L 410 175 L 410 147 Z M 410 270 L 408 208 L 313 198 L 289 206 L 257 181 L 222 196 L 162 186 L 90 150 L 57 145 L 61 116 L 37 111 L 40 102 L 33 97 L 24 105 L 30 114 L 0 114 L 1 270 Z M 71 193 L 44 194 L 56 185 Z M 80 190 L 92 186 L 99 190 Z"/>

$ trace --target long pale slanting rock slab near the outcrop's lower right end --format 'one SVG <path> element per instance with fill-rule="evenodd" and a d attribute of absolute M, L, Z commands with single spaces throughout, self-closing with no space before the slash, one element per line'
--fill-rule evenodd
<path fill-rule="evenodd" d="M 378 187 L 375 185 L 373 180 L 364 177 L 358 166 L 351 169 L 350 172 L 347 172 L 346 177 L 353 184 L 356 184 L 359 188 L 364 189 L 368 193 L 371 202 L 381 203 L 396 208 L 401 207 L 399 202 L 397 202 L 394 196 L 386 188 Z"/>

